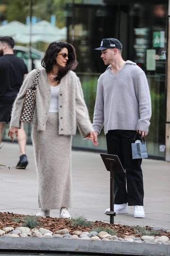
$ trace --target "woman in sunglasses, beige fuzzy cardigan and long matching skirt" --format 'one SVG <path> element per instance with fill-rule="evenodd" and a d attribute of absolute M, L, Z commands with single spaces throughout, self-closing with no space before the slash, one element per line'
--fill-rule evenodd
<path fill-rule="evenodd" d="M 52 42 L 42 59 L 36 92 L 32 139 L 38 172 L 39 217 L 60 209 L 60 218 L 71 216 L 71 142 L 76 125 L 83 137 L 95 139 L 76 68 L 74 46 Z M 18 134 L 26 89 L 34 82 L 36 70 L 24 81 L 13 105 L 8 136 Z"/>

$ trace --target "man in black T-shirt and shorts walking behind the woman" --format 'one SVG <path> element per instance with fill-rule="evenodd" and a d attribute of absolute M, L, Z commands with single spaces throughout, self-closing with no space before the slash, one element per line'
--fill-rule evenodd
<path fill-rule="evenodd" d="M 0 38 L 0 143 L 5 123 L 10 121 L 13 102 L 28 70 L 24 61 L 14 55 L 15 42 L 12 37 Z M 16 167 L 26 168 L 26 132 L 24 124 L 18 132 L 20 159 Z"/>

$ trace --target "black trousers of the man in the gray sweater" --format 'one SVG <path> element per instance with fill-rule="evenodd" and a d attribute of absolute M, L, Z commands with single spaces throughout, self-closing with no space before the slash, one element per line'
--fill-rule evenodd
<path fill-rule="evenodd" d="M 126 174 L 114 173 L 114 203 L 144 205 L 142 159 L 132 159 L 131 143 L 136 131 L 110 130 L 106 134 L 107 151 L 118 155 Z"/>

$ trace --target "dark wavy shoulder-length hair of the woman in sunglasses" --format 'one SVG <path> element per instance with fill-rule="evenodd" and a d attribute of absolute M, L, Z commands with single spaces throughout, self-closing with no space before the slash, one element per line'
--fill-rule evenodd
<path fill-rule="evenodd" d="M 56 65 L 56 56 L 62 48 L 68 49 L 68 61 L 65 67 L 59 66 L 56 77 L 53 79 L 53 81 L 57 81 L 58 83 L 70 70 L 74 70 L 78 64 L 78 62 L 76 61 L 75 47 L 67 42 L 54 41 L 48 46 L 41 62 L 42 67 L 44 67 L 46 73 L 49 74 L 52 71 L 53 67 Z"/>

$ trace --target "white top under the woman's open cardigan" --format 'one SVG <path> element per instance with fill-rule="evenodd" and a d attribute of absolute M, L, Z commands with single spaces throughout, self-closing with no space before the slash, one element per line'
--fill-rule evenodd
<path fill-rule="evenodd" d="M 59 112 L 59 85 L 51 86 L 51 101 L 49 112 Z"/>

